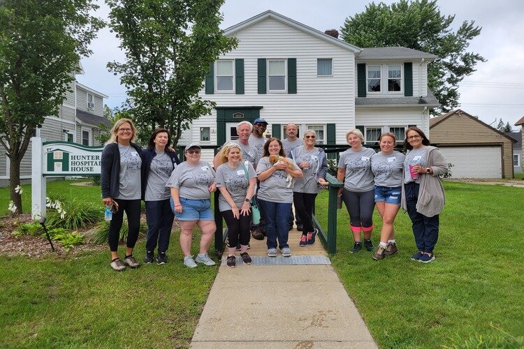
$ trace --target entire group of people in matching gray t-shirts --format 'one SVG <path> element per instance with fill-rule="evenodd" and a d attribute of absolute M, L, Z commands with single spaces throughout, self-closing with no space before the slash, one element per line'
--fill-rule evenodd
<path fill-rule="evenodd" d="M 101 190 L 104 205 L 112 207 L 109 228 L 110 266 L 117 271 L 140 264 L 133 257 L 133 248 L 140 228 L 140 201 L 145 201 L 147 242 L 144 262 L 167 262 L 166 251 L 174 217 L 180 223 L 180 247 L 184 265 L 190 268 L 215 265 L 208 255 L 216 225 L 211 209 L 210 193 L 219 193 L 219 211 L 228 227 L 226 265 L 236 266 L 235 251 L 245 264 L 251 264 L 247 253 L 249 240 L 267 238 L 268 256 L 291 255 L 289 230 L 296 218 L 302 232 L 299 246 L 316 241 L 318 230 L 312 214 L 319 188 L 326 185 L 327 157 L 315 147 L 316 133 L 305 131 L 297 137 L 295 124 L 286 125 L 286 139 L 263 137 L 268 123 L 256 119 L 254 124 L 241 121 L 238 140 L 226 142 L 214 157 L 213 166 L 201 161 L 201 147 L 188 144 L 186 161 L 180 162 L 169 146 L 170 133 L 155 130 L 142 149 L 134 143 L 136 127 L 130 119 L 119 119 L 110 131 L 101 158 Z M 350 149 L 340 154 L 337 179 L 344 181 L 340 195 L 349 216 L 354 236 L 352 253 L 363 245 L 373 251 L 372 212 L 377 205 L 383 220 L 380 245 L 373 258 L 381 260 L 398 252 L 393 221 L 400 207 L 407 210 L 413 222 L 417 251 L 412 259 L 429 262 L 438 238 L 438 214 L 444 205 L 444 190 L 439 174 L 447 164 L 438 149 L 416 127 L 407 130 L 407 155 L 394 151 L 395 135 L 381 135 L 378 153 L 362 146 L 361 131 L 346 134 Z M 217 193 L 217 194 L 218 194 Z M 295 206 L 296 217 L 292 205 Z M 252 210 L 260 209 L 261 222 L 253 224 Z M 124 212 L 129 224 L 126 255 L 117 253 Z M 198 255 L 191 255 L 194 228 L 201 229 Z M 155 256 L 155 249 L 158 254 Z"/>

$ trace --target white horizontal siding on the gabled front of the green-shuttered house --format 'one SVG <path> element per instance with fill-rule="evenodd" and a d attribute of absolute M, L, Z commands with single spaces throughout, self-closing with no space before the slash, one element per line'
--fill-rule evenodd
<path fill-rule="evenodd" d="M 236 37 L 238 47 L 220 59 L 244 59 L 245 94 L 207 95 L 217 107 L 259 105 L 260 116 L 271 124 L 336 123 L 336 142 L 344 142 L 344 132 L 354 126 L 354 54 L 337 45 L 305 34 L 276 20 L 266 19 L 243 29 Z M 257 59 L 296 58 L 297 94 L 257 94 Z M 316 60 L 331 58 L 333 76 L 316 76 Z M 216 111 L 203 116 L 191 126 L 191 139 L 199 142 L 200 127 L 216 131 Z M 211 132 L 210 144 L 216 144 L 217 133 Z"/>

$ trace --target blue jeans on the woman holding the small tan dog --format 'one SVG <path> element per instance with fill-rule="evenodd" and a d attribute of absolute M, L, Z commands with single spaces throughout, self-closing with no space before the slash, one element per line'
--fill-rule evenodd
<path fill-rule="evenodd" d="M 265 213 L 265 235 L 268 237 L 268 248 L 277 248 L 277 239 L 280 249 L 289 247 L 287 239 L 289 237 L 288 218 L 291 202 L 281 204 L 260 199 L 259 202 Z"/>

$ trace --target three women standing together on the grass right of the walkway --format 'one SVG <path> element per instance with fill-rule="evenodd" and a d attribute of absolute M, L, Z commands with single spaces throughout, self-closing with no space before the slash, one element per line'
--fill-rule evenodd
<path fill-rule="evenodd" d="M 363 147 L 364 137 L 358 129 L 347 131 L 346 139 L 350 148 L 340 154 L 337 179 L 344 181 L 339 195 L 347 207 L 353 233 L 351 253 L 361 251 L 363 246 L 374 251 L 371 234 L 375 205 L 382 228 L 379 248 L 372 258 L 382 260 L 398 253 L 394 221 L 402 207 L 412 221 L 418 250 L 412 260 L 425 263 L 435 260 L 439 213 L 444 208 L 444 187 L 439 175 L 448 170 L 439 149 L 430 146 L 423 131 L 414 126 L 406 131 L 406 154 L 393 149 L 397 142 L 393 133 L 380 135 L 379 152 Z"/>

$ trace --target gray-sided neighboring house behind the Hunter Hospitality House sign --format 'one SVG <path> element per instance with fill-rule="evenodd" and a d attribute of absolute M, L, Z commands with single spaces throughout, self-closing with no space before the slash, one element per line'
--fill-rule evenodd
<path fill-rule="evenodd" d="M 76 74 L 83 74 L 80 69 Z M 91 89 L 76 79 L 70 84 L 71 92 L 66 92 L 66 100 L 59 109 L 58 117 L 45 117 L 41 128 L 34 135 L 44 138 L 44 142 L 64 140 L 89 146 L 100 145 L 97 138 L 100 135 L 99 124 L 110 124 L 103 117 L 103 98 L 105 94 Z M 5 151 L 0 151 L 0 186 L 9 185 L 10 161 Z M 31 178 L 31 144 L 20 164 L 20 179 L 22 183 Z M 25 179 L 25 181 L 24 181 Z"/>

